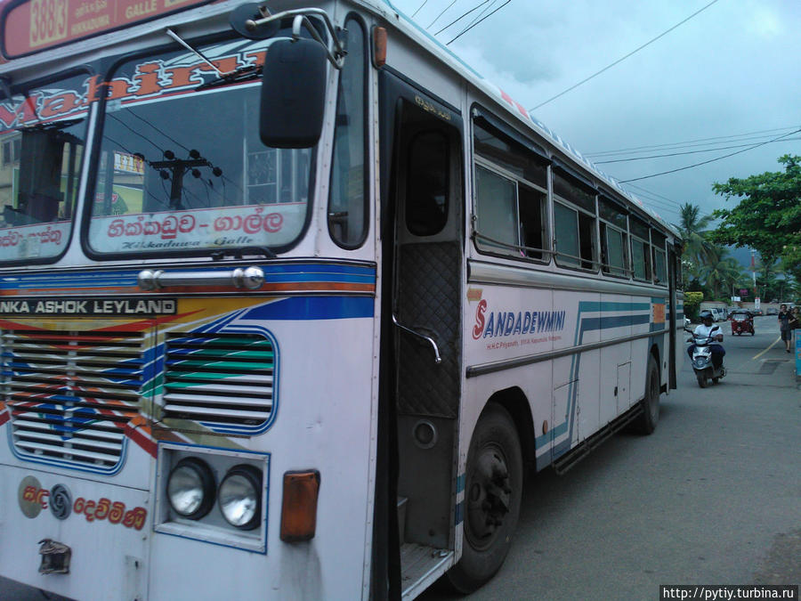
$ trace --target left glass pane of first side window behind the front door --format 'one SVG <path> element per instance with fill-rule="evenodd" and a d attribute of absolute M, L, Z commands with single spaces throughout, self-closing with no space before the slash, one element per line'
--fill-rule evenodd
<path fill-rule="evenodd" d="M 517 186 L 514 181 L 477 165 L 475 188 L 479 246 L 495 252 L 521 255 Z"/>

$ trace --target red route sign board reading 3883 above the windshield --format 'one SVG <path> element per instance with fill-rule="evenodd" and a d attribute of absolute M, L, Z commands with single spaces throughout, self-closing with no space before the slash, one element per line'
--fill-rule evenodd
<path fill-rule="evenodd" d="M 209 0 L 28 0 L 3 15 L 3 53 L 36 53 Z"/>

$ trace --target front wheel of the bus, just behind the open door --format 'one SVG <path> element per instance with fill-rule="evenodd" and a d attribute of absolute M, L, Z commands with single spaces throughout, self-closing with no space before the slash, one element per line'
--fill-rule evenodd
<path fill-rule="evenodd" d="M 448 572 L 459 592 L 478 589 L 504 563 L 520 516 L 522 475 L 514 421 L 503 407 L 490 404 L 467 451 L 462 557 Z"/>

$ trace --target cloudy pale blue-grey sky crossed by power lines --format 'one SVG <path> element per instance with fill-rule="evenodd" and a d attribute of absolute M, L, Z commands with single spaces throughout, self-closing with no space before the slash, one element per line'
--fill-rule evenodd
<path fill-rule="evenodd" d="M 408 15 L 417 12 L 414 19 L 432 34 L 480 6 L 436 36 L 443 44 L 506 3 L 392 1 Z M 801 155 L 801 132 L 794 134 L 801 129 L 801 2 L 710 2 L 511 0 L 449 48 L 619 181 L 785 136 L 625 185 L 676 223 L 687 201 L 703 213 L 733 206 L 712 192 L 712 183 L 779 171 L 778 157 Z M 676 156 L 646 158 L 665 154 Z M 602 163 L 621 158 L 640 159 Z"/>

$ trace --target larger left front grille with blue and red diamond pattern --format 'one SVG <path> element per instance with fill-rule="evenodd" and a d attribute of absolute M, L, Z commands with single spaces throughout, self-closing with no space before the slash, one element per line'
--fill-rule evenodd
<path fill-rule="evenodd" d="M 141 332 L 0 331 L 3 400 L 20 459 L 110 474 L 139 414 Z"/>

